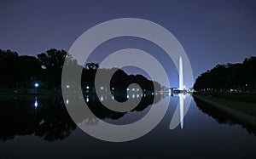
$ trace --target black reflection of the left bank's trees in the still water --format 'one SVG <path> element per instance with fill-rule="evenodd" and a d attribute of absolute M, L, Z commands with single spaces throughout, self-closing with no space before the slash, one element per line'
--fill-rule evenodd
<path fill-rule="evenodd" d="M 124 96 L 126 98 L 126 94 L 115 95 L 114 99 L 124 100 Z M 161 95 L 156 95 L 157 101 L 160 101 L 161 98 Z M 84 98 L 73 97 L 66 102 L 75 102 L 76 99 L 85 99 L 90 111 L 102 120 L 117 120 L 127 113 L 108 110 L 102 105 L 100 99 L 96 98 L 96 95 Z M 113 99 L 113 97 L 103 95 L 103 99 Z M 139 105 L 132 111 L 143 111 L 148 105 L 152 105 L 153 101 L 154 95 L 143 96 Z M 37 104 L 35 105 L 35 103 Z M 77 106 L 80 108 L 82 105 Z M 66 108 L 61 96 L 0 98 L 0 140 L 14 139 L 16 135 L 35 135 L 47 141 L 65 139 L 77 128 L 67 109 L 77 108 Z M 86 124 L 95 125 L 98 122 L 98 119 L 92 116 L 78 115 L 78 117 L 81 122 L 84 121 Z"/>

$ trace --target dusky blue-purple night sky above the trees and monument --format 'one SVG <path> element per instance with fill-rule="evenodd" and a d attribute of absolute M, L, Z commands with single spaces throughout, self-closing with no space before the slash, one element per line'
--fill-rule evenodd
<path fill-rule="evenodd" d="M 40 54 L 49 48 L 68 50 L 90 27 L 127 17 L 151 20 L 171 31 L 189 56 L 194 78 L 214 65 L 242 62 L 256 55 L 256 3 L 253 0 L 2 0 L 0 48 L 29 55 Z M 142 39 L 119 38 L 104 43 L 90 60 L 101 61 L 103 54 L 121 48 L 142 48 L 153 55 L 160 52 Z M 170 65 L 171 86 L 177 86 L 177 71 L 172 60 L 165 59 L 159 60 L 163 65 Z"/>

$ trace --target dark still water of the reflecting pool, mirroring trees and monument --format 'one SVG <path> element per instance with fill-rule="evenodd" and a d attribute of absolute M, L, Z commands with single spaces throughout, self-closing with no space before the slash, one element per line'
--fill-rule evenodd
<path fill-rule="evenodd" d="M 94 97 L 84 99 L 97 117 L 114 124 L 136 122 L 154 106 L 148 96 L 135 110 L 117 113 Z M 166 116 L 151 132 L 129 142 L 111 143 L 80 130 L 61 97 L 1 97 L 0 158 L 255 158 L 255 128 L 192 99 L 183 128 L 170 130 L 178 97 L 159 95 L 157 105 L 166 100 L 170 100 Z M 96 127 L 95 119 L 85 121 Z"/>

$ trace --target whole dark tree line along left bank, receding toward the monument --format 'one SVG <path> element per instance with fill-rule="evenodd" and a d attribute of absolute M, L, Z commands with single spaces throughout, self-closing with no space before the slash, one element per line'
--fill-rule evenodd
<path fill-rule="evenodd" d="M 100 69 L 99 65 L 78 65 L 77 60 L 67 51 L 55 48 L 37 54 L 36 57 L 0 49 L 0 88 L 34 88 L 34 84 L 38 83 L 39 89 L 61 90 L 61 71 L 65 60 L 82 67 L 82 88 L 95 90 L 95 76 L 96 71 Z M 100 71 L 108 73 L 111 69 L 101 68 Z M 152 82 L 142 75 L 127 75 L 120 69 L 111 79 L 111 87 L 114 87 L 115 91 L 126 90 L 131 83 L 137 83 L 141 88 L 152 91 L 155 85 L 160 90 L 160 83 Z"/>

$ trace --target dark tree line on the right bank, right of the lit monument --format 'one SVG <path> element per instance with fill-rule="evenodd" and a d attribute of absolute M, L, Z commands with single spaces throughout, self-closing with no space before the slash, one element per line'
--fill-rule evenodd
<path fill-rule="evenodd" d="M 256 57 L 242 63 L 216 65 L 197 77 L 194 89 L 207 92 L 253 92 L 256 90 Z"/>

